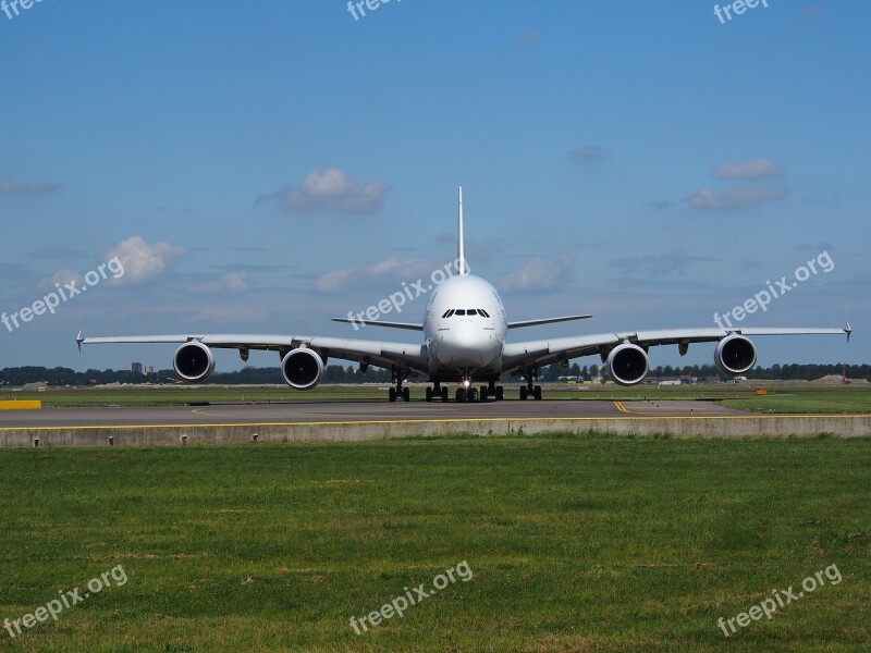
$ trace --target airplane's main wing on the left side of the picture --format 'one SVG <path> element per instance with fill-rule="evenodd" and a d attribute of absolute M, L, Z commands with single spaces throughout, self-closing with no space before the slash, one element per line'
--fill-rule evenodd
<path fill-rule="evenodd" d="M 200 342 L 216 349 L 238 349 L 247 353 L 250 349 L 268 352 L 289 352 L 296 347 L 316 349 L 324 358 L 340 358 L 354 362 L 370 364 L 376 367 L 409 368 L 426 373 L 429 369 L 427 348 L 425 345 L 405 343 L 378 342 L 367 340 L 348 340 L 344 337 L 320 337 L 310 335 L 258 335 L 258 334 L 185 334 L 185 335 L 125 335 L 118 337 L 83 337 L 78 334 L 76 343 L 82 345 L 99 344 L 183 344 Z M 246 356 L 247 357 L 247 356 Z"/>

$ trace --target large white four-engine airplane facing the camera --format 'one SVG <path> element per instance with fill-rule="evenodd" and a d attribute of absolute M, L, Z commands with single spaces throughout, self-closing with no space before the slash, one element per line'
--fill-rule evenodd
<path fill-rule="evenodd" d="M 335 322 L 419 331 L 424 334 L 422 344 L 257 334 L 83 337 L 81 332 L 76 343 L 79 352 L 82 345 L 93 344 L 179 344 L 173 368 L 179 377 L 192 383 L 207 380 L 214 371 L 212 349 L 238 349 L 243 361 L 248 360 L 252 349 L 258 349 L 278 352 L 284 382 L 299 391 L 315 387 L 323 378 L 327 361 L 338 358 L 359 364 L 363 371 L 369 366 L 390 370 L 392 381 L 388 398 L 391 402 L 409 401 L 409 391 L 404 383 L 412 374 L 420 375 L 431 384 L 426 389 L 427 402 L 447 402 L 446 383 L 459 383 L 455 392 L 457 402 L 487 402 L 490 398 L 504 399 L 504 386 L 499 382 L 512 374 L 519 374 L 525 381 L 519 387 L 520 399 L 541 399 L 541 386 L 537 384 L 539 370 L 553 364 L 567 369 L 569 360 L 584 356 L 600 356 L 609 377 L 619 385 L 630 386 L 641 383 L 647 377 L 650 369 L 648 350 L 653 346 L 677 345 L 684 356 L 691 343 L 716 343 L 716 367 L 725 374 L 739 375 L 750 370 L 757 360 L 756 345 L 748 336 L 846 334 L 849 342 L 852 332 L 847 322 L 843 329 L 665 329 L 507 342 L 507 333 L 514 329 L 585 320 L 592 316 L 507 321 L 496 289 L 471 274 L 466 262 L 462 187 L 456 267 L 456 275 L 434 287 L 420 323 L 333 319 Z M 476 389 L 476 383 L 487 385 Z"/>

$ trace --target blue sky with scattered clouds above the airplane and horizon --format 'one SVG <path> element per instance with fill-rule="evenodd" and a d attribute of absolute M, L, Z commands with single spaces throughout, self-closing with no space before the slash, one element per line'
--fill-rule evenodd
<path fill-rule="evenodd" d="M 53 315 L 0 324 L 0 367 L 171 365 L 163 346 L 78 354 L 79 329 L 413 342 L 329 318 L 454 258 L 461 184 L 473 271 L 510 319 L 596 316 L 512 337 L 712 326 L 825 252 L 831 271 L 741 325 L 848 318 L 849 346 L 759 338 L 759 362 L 869 362 L 871 4 L 768 0 L 725 23 L 713 7 L 0 12 L 0 310 L 124 264 Z"/>

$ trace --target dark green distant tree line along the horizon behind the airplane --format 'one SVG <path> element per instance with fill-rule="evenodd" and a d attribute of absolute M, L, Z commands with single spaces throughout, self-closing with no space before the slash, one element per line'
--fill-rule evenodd
<path fill-rule="evenodd" d="M 748 379 L 780 379 L 813 381 L 829 374 L 841 374 L 841 365 L 773 365 L 770 368 L 757 367 L 745 374 Z M 539 381 L 557 381 L 561 377 L 574 377 L 580 381 L 600 379 L 604 374 L 604 366 L 579 366 L 574 364 L 568 370 L 563 370 L 559 365 L 542 368 Z M 648 378 L 676 379 L 692 377 L 699 381 L 727 380 L 712 365 L 692 365 L 684 367 L 659 366 L 650 370 Z M 871 365 L 847 366 L 847 378 L 871 380 Z M 22 386 L 27 383 L 48 383 L 58 385 L 102 385 L 107 383 L 174 383 L 176 380 L 173 370 L 160 370 L 154 374 L 140 374 L 127 370 L 87 370 L 76 372 L 70 368 L 21 367 L 0 370 L 0 384 Z M 413 381 L 415 379 L 412 379 Z M 253 384 L 282 384 L 279 368 L 246 367 L 235 372 L 219 372 L 213 374 L 207 383 L 214 385 L 253 385 Z M 330 365 L 323 373 L 323 383 L 390 383 L 390 372 L 377 368 L 369 368 L 365 373 L 356 366 L 343 367 Z"/>

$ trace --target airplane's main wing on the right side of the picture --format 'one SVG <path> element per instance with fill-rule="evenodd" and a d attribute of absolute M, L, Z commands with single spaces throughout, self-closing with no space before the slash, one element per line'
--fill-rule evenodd
<path fill-rule="evenodd" d="M 529 341 L 506 344 L 503 352 L 502 370 L 514 371 L 520 367 L 545 366 L 560 360 L 608 354 L 621 343 L 633 343 L 639 347 L 659 345 L 680 345 L 688 347 L 690 343 L 719 342 L 733 333 L 739 335 L 846 335 L 849 341 L 849 323 L 843 329 L 796 329 L 796 328 L 738 328 L 738 329 L 665 329 L 661 331 L 634 331 L 627 333 L 600 333 L 557 337 L 552 340 Z"/>

